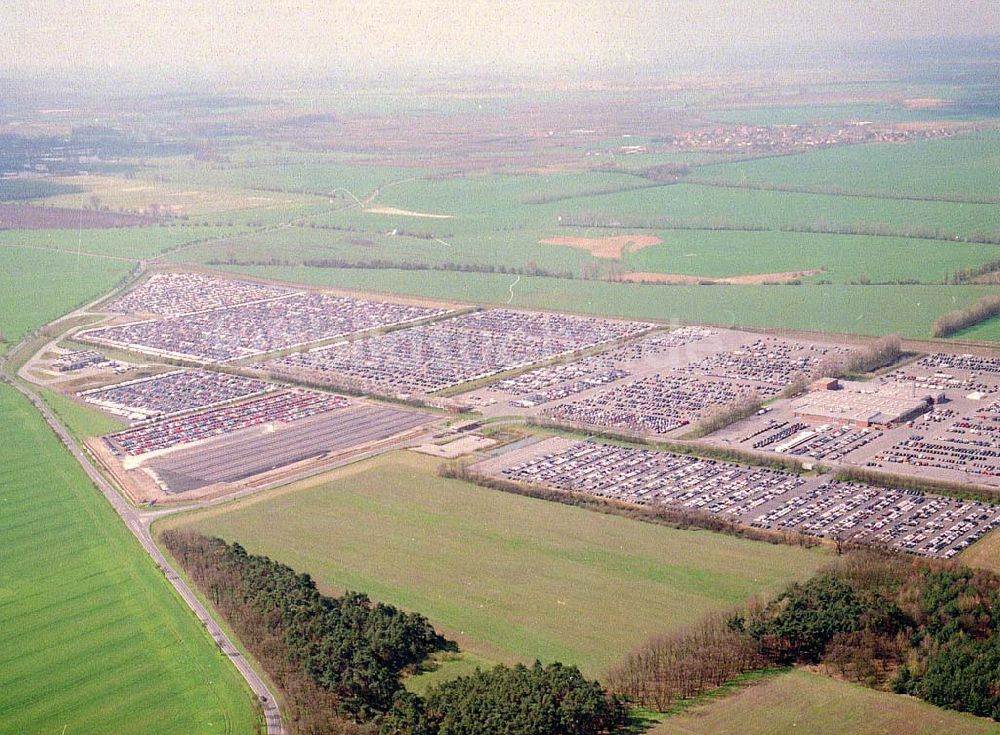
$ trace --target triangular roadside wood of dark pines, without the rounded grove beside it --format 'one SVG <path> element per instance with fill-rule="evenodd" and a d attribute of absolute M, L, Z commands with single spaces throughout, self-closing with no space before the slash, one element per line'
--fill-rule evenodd
<path fill-rule="evenodd" d="M 354 732 L 389 709 L 404 672 L 456 648 L 422 615 L 322 595 L 308 574 L 239 544 L 180 530 L 161 540 L 285 692 L 295 733 Z"/>

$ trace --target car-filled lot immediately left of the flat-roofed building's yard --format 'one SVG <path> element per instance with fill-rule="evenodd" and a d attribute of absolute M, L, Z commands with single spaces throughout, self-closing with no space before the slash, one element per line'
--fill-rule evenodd
<path fill-rule="evenodd" d="M 465 400 L 486 415 L 535 416 L 636 438 L 679 436 L 715 410 L 774 397 L 849 352 L 832 343 L 682 327 L 495 383 Z"/>

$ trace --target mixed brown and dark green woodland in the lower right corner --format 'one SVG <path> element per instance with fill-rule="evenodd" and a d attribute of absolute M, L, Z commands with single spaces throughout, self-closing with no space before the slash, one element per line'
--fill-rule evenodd
<path fill-rule="evenodd" d="M 608 681 L 626 700 L 662 710 L 740 673 L 793 664 L 1000 720 L 1000 577 L 853 552 L 724 621 L 650 640 Z"/>

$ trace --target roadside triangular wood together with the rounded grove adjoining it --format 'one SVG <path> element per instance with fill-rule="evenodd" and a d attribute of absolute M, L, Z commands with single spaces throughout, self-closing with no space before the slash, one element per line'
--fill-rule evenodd
<path fill-rule="evenodd" d="M 160 537 L 280 688 L 292 735 L 605 735 L 624 704 L 575 666 L 497 666 L 432 686 L 401 677 L 458 647 L 422 615 L 359 592 L 320 594 L 308 574 L 184 530 Z"/>

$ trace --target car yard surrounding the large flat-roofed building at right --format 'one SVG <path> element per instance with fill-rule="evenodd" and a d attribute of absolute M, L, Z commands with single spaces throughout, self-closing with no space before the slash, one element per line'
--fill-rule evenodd
<path fill-rule="evenodd" d="M 708 440 L 1000 487 L 1000 358 L 933 353 L 868 382 L 814 386 Z"/>

